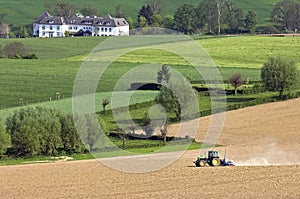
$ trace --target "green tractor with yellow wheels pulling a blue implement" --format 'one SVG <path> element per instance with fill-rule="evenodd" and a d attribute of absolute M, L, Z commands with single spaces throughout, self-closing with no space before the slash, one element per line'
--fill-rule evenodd
<path fill-rule="evenodd" d="M 224 159 L 220 159 L 218 151 L 208 151 L 207 156 L 197 157 L 197 160 L 194 161 L 196 167 L 204 167 L 207 164 L 209 166 L 235 166 L 233 161 L 226 160 L 226 152 Z"/>

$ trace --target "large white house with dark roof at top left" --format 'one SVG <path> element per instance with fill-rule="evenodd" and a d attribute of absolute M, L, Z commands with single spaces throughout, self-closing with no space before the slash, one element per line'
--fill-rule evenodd
<path fill-rule="evenodd" d="M 124 18 L 83 16 L 70 18 L 51 16 L 44 12 L 33 23 L 33 35 L 37 37 L 71 36 L 128 36 L 129 24 Z"/>

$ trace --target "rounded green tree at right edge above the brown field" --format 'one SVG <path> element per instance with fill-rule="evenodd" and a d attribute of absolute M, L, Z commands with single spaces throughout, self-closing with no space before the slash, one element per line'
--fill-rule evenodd
<path fill-rule="evenodd" d="M 297 83 L 297 64 L 283 57 L 270 57 L 261 69 L 261 78 L 269 91 L 278 91 L 279 97 Z"/>

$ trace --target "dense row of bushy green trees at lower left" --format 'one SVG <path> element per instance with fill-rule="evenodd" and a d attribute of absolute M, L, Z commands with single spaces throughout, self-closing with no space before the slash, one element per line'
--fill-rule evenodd
<path fill-rule="evenodd" d="M 73 116 L 40 106 L 15 111 L 5 124 L 0 122 L 0 155 L 14 157 L 83 153 L 93 150 L 102 135 L 92 114 Z"/>

